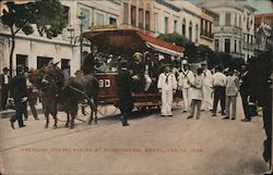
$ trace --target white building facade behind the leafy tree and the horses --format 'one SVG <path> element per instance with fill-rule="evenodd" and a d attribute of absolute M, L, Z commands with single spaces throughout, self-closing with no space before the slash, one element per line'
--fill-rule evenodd
<path fill-rule="evenodd" d="M 66 73 L 74 75 L 81 66 L 80 24 L 83 32 L 88 32 L 92 26 L 107 24 L 119 24 L 120 1 L 61 1 L 68 11 L 68 27 L 57 38 L 48 39 L 35 32 L 26 36 L 19 33 L 15 38 L 15 50 L 13 54 L 13 72 L 19 64 L 40 68 L 48 62 L 60 62 L 59 66 Z M 1 2 L 1 11 L 4 8 Z M 83 15 L 79 18 L 80 15 Z M 0 24 L 0 68 L 9 67 L 9 54 L 11 40 L 9 28 Z M 83 57 L 90 52 L 87 41 L 83 42 Z M 13 74 L 14 75 L 14 74 Z"/>

